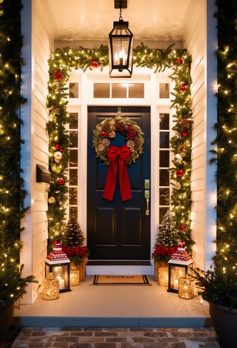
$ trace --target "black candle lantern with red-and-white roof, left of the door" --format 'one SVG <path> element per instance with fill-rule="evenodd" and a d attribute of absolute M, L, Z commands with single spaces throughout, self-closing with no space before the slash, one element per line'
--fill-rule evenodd
<path fill-rule="evenodd" d="M 48 273 L 52 273 L 59 280 L 59 293 L 70 290 L 70 260 L 62 251 L 61 243 L 54 242 L 53 250 L 44 260 L 45 277 Z"/>

